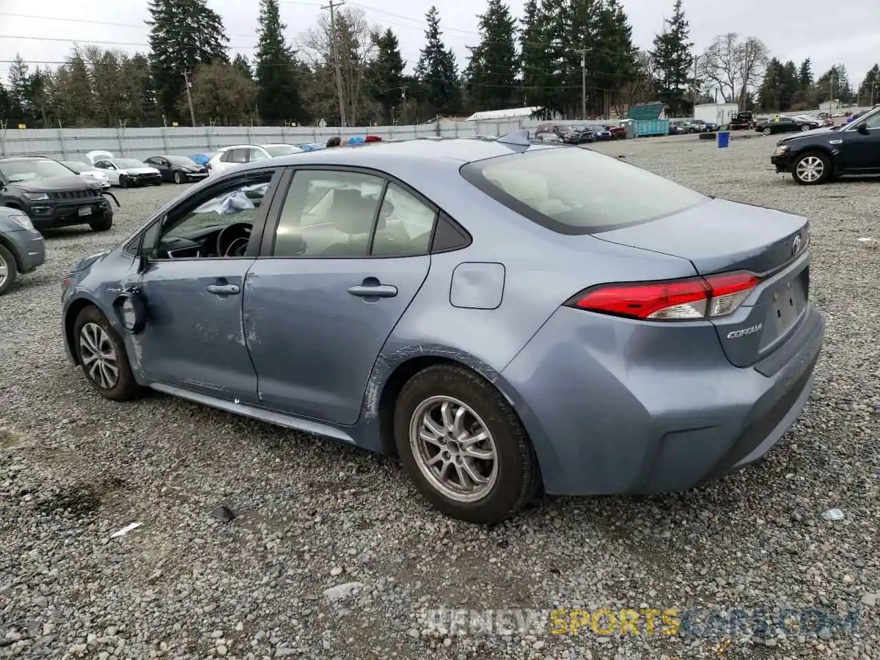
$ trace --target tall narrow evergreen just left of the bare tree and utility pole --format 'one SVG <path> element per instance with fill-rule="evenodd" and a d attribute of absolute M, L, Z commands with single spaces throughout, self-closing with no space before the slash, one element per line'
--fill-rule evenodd
<path fill-rule="evenodd" d="M 284 40 L 278 0 L 260 0 L 260 27 L 256 54 L 257 107 L 267 124 L 304 119 L 299 93 L 296 53 Z"/>

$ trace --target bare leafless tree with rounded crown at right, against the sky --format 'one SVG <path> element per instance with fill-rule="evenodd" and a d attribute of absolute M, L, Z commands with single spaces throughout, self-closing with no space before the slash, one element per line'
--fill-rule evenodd
<path fill-rule="evenodd" d="M 700 56 L 698 76 L 718 89 L 725 103 L 742 106 L 764 73 L 768 53 L 756 37 L 740 41 L 737 33 L 720 34 Z"/>

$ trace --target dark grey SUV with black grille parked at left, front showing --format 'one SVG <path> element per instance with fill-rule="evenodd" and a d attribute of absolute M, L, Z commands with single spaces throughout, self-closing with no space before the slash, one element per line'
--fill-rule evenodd
<path fill-rule="evenodd" d="M 0 204 L 24 211 L 38 231 L 73 224 L 88 224 L 94 231 L 113 226 L 113 209 L 100 183 L 44 156 L 0 158 Z"/>

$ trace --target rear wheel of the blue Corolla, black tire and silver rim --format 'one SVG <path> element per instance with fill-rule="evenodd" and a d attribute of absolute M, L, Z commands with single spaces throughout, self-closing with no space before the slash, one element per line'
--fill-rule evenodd
<path fill-rule="evenodd" d="M 464 367 L 436 364 L 404 385 L 394 441 L 416 488 L 458 520 L 500 523 L 539 488 L 538 462 L 517 414 Z"/>

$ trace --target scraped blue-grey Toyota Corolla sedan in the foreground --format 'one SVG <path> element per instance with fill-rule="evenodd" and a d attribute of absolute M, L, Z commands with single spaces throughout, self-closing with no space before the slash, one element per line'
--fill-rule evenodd
<path fill-rule="evenodd" d="M 63 337 L 108 399 L 396 451 L 491 524 L 539 489 L 670 492 L 765 455 L 825 335 L 808 229 L 522 133 L 295 154 L 81 261 Z"/>

